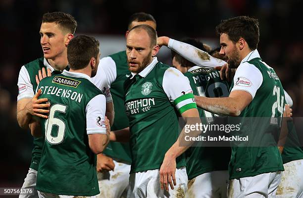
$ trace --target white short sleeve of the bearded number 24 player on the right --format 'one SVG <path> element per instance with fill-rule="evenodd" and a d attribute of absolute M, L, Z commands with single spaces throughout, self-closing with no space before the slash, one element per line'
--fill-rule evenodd
<path fill-rule="evenodd" d="M 234 76 L 234 87 L 232 91 L 243 90 L 249 92 L 254 98 L 256 91 L 263 82 L 263 76 L 260 70 L 254 65 L 245 62 L 236 70 Z"/>

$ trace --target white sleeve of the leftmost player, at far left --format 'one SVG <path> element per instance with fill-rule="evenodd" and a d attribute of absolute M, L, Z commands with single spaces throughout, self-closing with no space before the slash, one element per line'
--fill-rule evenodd
<path fill-rule="evenodd" d="M 35 93 L 33 90 L 33 84 L 31 83 L 31 79 L 28 74 L 28 71 L 24 66 L 22 66 L 20 69 L 17 85 L 18 85 L 18 89 L 19 89 L 17 101 L 19 101 L 23 98 L 33 98 L 34 97 Z"/>

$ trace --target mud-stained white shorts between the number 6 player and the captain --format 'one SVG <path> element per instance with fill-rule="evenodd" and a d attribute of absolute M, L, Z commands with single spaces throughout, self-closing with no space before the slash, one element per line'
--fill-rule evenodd
<path fill-rule="evenodd" d="M 97 198 L 120 198 L 121 195 L 126 197 L 131 165 L 116 160 L 113 162 L 115 164 L 114 171 L 97 172 L 100 190 Z"/>

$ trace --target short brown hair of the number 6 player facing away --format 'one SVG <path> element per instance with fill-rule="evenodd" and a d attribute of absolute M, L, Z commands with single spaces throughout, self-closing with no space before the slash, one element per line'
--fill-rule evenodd
<path fill-rule="evenodd" d="M 99 41 L 94 37 L 79 35 L 69 41 L 67 45 L 67 60 L 73 70 L 85 68 L 92 57 L 99 54 Z"/>

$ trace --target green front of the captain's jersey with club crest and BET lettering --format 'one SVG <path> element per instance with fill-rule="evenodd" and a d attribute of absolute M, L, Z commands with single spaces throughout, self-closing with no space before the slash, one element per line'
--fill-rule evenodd
<path fill-rule="evenodd" d="M 158 62 L 145 78 L 136 75 L 124 83 L 131 132 L 130 173 L 159 169 L 165 153 L 179 136 L 178 113 L 162 87 L 168 68 Z M 185 156 L 176 162 L 177 167 L 185 166 Z"/>

